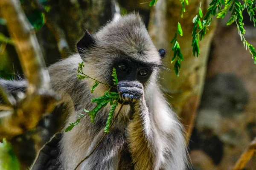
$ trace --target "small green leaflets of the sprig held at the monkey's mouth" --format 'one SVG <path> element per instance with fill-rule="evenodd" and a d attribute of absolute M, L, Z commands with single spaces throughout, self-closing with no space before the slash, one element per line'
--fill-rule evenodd
<path fill-rule="evenodd" d="M 85 79 L 85 78 L 90 78 L 90 79 L 93 79 L 89 76 L 87 76 L 86 74 L 83 73 L 83 67 L 84 67 L 84 62 L 81 62 L 79 63 L 79 67 L 77 69 L 77 76 L 78 78 L 81 80 L 81 79 Z M 82 75 L 81 75 L 82 74 Z M 112 71 L 112 77 L 114 78 L 113 79 L 113 84 L 114 85 L 117 85 L 118 83 L 118 79 L 117 79 L 117 76 L 116 76 L 116 69 L 113 68 L 113 71 Z M 93 79 L 95 80 L 95 84 L 93 85 L 93 88 L 91 89 L 91 93 L 93 93 L 94 89 L 99 85 L 99 83 L 102 83 L 96 79 Z M 104 85 L 107 85 L 105 83 L 102 83 Z M 114 88 L 111 86 L 111 88 Z M 106 127 L 104 128 L 105 130 L 105 133 L 108 133 L 109 132 L 109 128 L 110 128 L 110 125 L 111 125 L 111 121 L 112 121 L 112 118 L 113 118 L 113 113 L 118 105 L 118 100 L 119 100 L 119 94 L 116 93 L 116 92 L 110 92 L 110 89 L 108 91 L 106 91 L 104 93 L 103 96 L 100 96 L 100 97 L 96 97 L 96 98 L 93 98 L 91 102 L 93 103 L 96 103 L 96 107 L 93 108 L 91 111 L 87 111 L 86 109 L 84 109 L 84 112 L 86 112 L 89 116 L 90 116 L 90 119 L 91 119 L 91 122 L 94 123 L 94 119 L 97 115 L 97 113 L 102 109 L 102 108 L 105 108 L 106 105 L 108 105 L 108 103 L 111 105 L 111 109 L 109 111 L 109 114 L 108 114 L 108 119 L 107 119 L 107 122 L 106 122 Z M 86 116 L 87 114 L 82 114 L 80 113 L 80 115 L 78 115 L 79 119 L 76 120 L 76 122 L 74 123 L 70 123 L 70 125 L 65 129 L 65 132 L 68 132 L 70 130 L 73 129 L 74 126 L 78 125 L 80 120 Z"/>

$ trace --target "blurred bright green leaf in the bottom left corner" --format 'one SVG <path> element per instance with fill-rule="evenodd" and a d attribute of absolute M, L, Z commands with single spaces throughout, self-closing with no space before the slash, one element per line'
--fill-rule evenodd
<path fill-rule="evenodd" d="M 6 139 L 0 142 L 0 170 L 20 170 L 20 163 Z"/>

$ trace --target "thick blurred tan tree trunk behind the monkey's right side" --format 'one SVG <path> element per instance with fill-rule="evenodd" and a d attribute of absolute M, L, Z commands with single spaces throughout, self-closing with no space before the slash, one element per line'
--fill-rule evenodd
<path fill-rule="evenodd" d="M 194 57 L 192 54 L 192 23 L 193 17 L 198 14 L 200 0 L 189 1 L 185 6 L 186 12 L 183 18 L 180 17 L 181 4 L 178 0 L 158 0 L 156 6 L 151 10 L 150 22 L 148 26 L 149 34 L 156 47 L 164 48 L 167 55 L 164 65 L 170 70 L 163 70 L 160 79 L 162 90 L 166 98 L 173 106 L 181 121 L 185 125 L 187 137 L 189 138 L 193 128 L 196 111 L 204 87 L 204 79 L 207 68 L 209 48 L 214 33 L 216 22 L 213 21 L 206 37 L 199 42 L 200 56 Z M 205 14 L 208 8 L 208 1 L 202 1 L 201 6 Z M 173 57 L 172 44 L 177 31 L 177 23 L 183 28 L 183 37 L 178 36 L 184 61 L 181 62 L 179 77 L 173 71 L 174 64 L 171 64 Z"/>

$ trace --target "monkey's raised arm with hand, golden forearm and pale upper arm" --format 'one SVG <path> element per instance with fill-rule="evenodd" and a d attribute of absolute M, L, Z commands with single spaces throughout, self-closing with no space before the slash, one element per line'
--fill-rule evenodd
<path fill-rule="evenodd" d="M 155 106 L 149 111 L 140 82 L 120 81 L 117 87 L 121 98 L 131 106 L 128 144 L 135 170 L 184 170 L 186 144 L 182 126 L 160 92 L 151 96 Z"/>

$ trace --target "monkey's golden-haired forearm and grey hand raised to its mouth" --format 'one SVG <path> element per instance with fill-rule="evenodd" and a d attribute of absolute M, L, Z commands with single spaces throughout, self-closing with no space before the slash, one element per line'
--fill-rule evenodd
<path fill-rule="evenodd" d="M 120 81 L 117 87 L 121 98 L 131 106 L 128 141 L 135 169 L 158 170 L 163 153 L 158 144 L 159 133 L 145 102 L 143 85 L 137 81 Z"/>

